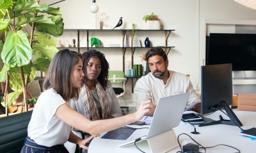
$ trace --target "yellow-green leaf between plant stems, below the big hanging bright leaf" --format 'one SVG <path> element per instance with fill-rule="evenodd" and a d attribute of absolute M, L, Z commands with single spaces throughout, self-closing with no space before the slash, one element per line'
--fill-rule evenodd
<path fill-rule="evenodd" d="M 22 79 L 20 73 L 8 71 L 10 87 L 13 91 L 22 91 Z"/>

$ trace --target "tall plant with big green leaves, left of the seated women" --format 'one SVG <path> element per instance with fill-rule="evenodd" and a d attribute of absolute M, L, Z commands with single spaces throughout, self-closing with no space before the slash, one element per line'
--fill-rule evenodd
<path fill-rule="evenodd" d="M 61 36 L 64 25 L 60 8 L 39 2 L 0 0 L 0 62 L 4 64 L 0 82 L 6 84 L 1 104 L 6 107 L 6 113 L 20 94 L 28 110 L 28 84 L 34 80 L 36 71 L 47 71 L 58 52 L 54 37 Z M 8 92 L 7 85 L 13 92 Z"/>

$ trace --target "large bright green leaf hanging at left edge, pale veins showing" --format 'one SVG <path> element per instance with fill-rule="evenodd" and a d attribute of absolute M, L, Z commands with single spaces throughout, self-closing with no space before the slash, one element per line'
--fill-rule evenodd
<path fill-rule="evenodd" d="M 11 68 L 28 64 L 32 58 L 32 49 L 26 34 L 22 31 L 10 32 L 4 43 L 1 58 Z"/>

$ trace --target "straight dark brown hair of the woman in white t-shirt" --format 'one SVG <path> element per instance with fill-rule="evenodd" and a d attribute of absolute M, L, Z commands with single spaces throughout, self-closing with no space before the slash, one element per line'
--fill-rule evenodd
<path fill-rule="evenodd" d="M 53 88 L 60 96 L 69 101 L 78 98 L 79 88 L 72 87 L 72 70 L 81 59 L 81 54 L 65 49 L 54 55 L 48 69 L 44 89 Z"/>

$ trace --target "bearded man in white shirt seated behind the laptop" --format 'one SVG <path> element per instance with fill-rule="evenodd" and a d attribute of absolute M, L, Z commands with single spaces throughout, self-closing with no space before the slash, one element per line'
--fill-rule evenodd
<path fill-rule="evenodd" d="M 160 98 L 190 92 L 187 108 L 197 103 L 191 110 L 200 112 L 198 98 L 189 77 L 182 73 L 168 70 L 167 55 L 162 48 L 151 48 L 145 55 L 150 73 L 141 77 L 136 83 L 134 93 L 137 107 L 142 101 L 152 101 L 147 115 L 154 115 L 157 102 Z"/>

